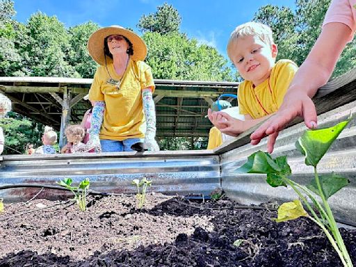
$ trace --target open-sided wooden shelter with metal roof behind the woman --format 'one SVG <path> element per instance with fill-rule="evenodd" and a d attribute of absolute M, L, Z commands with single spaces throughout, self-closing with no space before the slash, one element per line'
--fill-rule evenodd
<path fill-rule="evenodd" d="M 0 77 L 0 90 L 13 102 L 13 111 L 64 129 L 79 123 L 90 103 L 83 100 L 92 79 L 62 77 Z M 224 93 L 236 94 L 238 83 L 154 80 L 157 137 L 209 136 L 210 104 Z M 236 105 L 236 100 L 233 104 Z"/>

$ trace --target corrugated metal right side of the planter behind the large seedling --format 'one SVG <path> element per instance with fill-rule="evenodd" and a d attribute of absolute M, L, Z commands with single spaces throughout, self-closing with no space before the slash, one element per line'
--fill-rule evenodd
<path fill-rule="evenodd" d="M 318 118 L 319 127 L 330 127 L 355 113 L 355 102 Z M 293 173 L 292 179 L 300 184 L 309 183 L 314 177 L 314 168 L 304 164 L 304 156 L 298 152 L 294 143 L 305 130 L 304 124 L 286 129 L 275 144 L 273 157 L 287 155 Z M 350 179 L 350 184 L 330 197 L 329 202 L 336 218 L 344 223 L 356 223 L 356 126 L 355 120 L 335 140 L 332 147 L 318 163 L 321 174 L 335 172 Z M 257 146 L 244 145 L 221 155 L 222 187 L 227 196 L 243 204 L 259 204 L 268 201 L 285 202 L 298 198 L 292 188 L 272 188 L 266 183 L 266 175 L 233 174 L 232 171 L 243 165 L 250 154 L 266 149 L 266 140 Z"/>

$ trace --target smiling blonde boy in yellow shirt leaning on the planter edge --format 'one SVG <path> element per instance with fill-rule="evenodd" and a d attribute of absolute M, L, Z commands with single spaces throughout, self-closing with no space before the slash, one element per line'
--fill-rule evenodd
<path fill-rule="evenodd" d="M 245 79 L 238 86 L 238 107 L 245 121 L 209 109 L 209 120 L 222 133 L 238 136 L 280 108 L 298 66 L 285 59 L 275 63 L 277 53 L 269 26 L 248 22 L 232 32 L 227 54 Z"/>

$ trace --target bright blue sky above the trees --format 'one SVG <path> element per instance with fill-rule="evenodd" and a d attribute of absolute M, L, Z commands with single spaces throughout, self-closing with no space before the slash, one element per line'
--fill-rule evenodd
<path fill-rule="evenodd" d="M 226 55 L 229 34 L 238 24 L 252 19 L 258 8 L 267 4 L 295 8 L 295 0 L 14 0 L 16 19 L 26 22 L 41 11 L 55 15 L 65 26 L 92 21 L 100 26 L 118 24 L 135 29 L 142 15 L 155 13 L 164 2 L 181 15 L 181 32 L 189 38 L 216 47 Z M 140 32 L 138 32 L 141 34 Z"/>

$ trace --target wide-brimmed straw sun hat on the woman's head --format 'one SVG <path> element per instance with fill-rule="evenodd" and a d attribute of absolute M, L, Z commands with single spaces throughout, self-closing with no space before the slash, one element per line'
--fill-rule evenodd
<path fill-rule="evenodd" d="M 124 29 L 122 26 L 113 25 L 109 27 L 104 27 L 95 31 L 90 35 L 88 40 L 88 50 L 89 54 L 97 63 L 100 65 L 105 65 L 104 56 L 104 39 L 108 35 L 122 35 L 126 37 L 132 44 L 133 55 L 131 58 L 135 61 L 144 60 L 147 56 L 147 47 L 145 42 L 136 33 Z M 108 56 L 106 57 L 107 62 L 112 62 L 112 59 Z"/>

